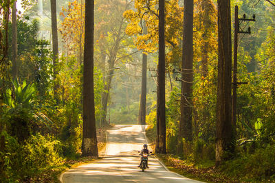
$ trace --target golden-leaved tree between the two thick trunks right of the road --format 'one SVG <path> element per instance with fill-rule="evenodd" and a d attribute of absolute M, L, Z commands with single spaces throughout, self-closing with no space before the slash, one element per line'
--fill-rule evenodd
<path fill-rule="evenodd" d="M 197 138 L 203 129 L 203 139 L 214 138 L 217 80 L 213 66 L 217 65 L 217 10 L 212 0 L 194 2 L 193 33 L 193 137 Z M 197 62 L 195 62 L 197 60 Z M 214 73 L 213 73 L 214 71 Z M 202 86 L 203 85 L 203 86 Z M 212 107 L 210 107 L 212 103 Z M 200 129 L 199 129 L 200 128 Z M 206 130 L 207 129 L 207 130 Z M 201 136 L 202 137 L 202 136 Z"/>

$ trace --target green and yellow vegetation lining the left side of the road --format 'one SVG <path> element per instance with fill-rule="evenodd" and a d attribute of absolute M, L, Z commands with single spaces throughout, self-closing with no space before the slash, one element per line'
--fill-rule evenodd
<path fill-rule="evenodd" d="M 8 10 L 5 3 L 1 2 L 1 13 Z M 16 77 L 12 77 L 11 66 L 12 22 L 5 29 L 5 20 L 1 20 L 1 35 L 8 32 L 10 44 L 1 62 L 6 67 L 1 67 L 0 80 L 0 182 L 58 182 L 59 175 L 69 167 L 97 158 L 81 156 L 83 58 L 78 59 L 77 49 L 70 50 L 69 55 L 59 54 L 55 67 L 58 75 L 54 76 L 52 47 L 43 27 L 47 22 L 33 16 L 39 13 L 36 1 L 22 3 L 25 12 L 17 11 Z M 68 2 L 63 3 L 67 7 Z M 50 1 L 45 4 L 46 13 L 49 7 Z M 4 43 L 1 39 L 1 50 Z M 105 132 L 111 126 L 99 127 L 104 82 L 102 69 L 95 66 L 94 72 L 98 151 L 103 156 Z"/>

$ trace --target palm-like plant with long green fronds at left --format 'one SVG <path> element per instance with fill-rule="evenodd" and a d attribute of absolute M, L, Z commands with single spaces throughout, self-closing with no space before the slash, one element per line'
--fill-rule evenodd
<path fill-rule="evenodd" d="M 6 90 L 3 95 L 5 106 L 8 111 L 8 126 L 12 135 L 24 140 L 30 135 L 30 129 L 34 125 L 44 124 L 50 128 L 52 121 L 45 116 L 41 106 L 35 104 L 36 88 L 34 84 L 19 84 L 16 79 L 12 82 L 13 92 L 11 89 Z"/>

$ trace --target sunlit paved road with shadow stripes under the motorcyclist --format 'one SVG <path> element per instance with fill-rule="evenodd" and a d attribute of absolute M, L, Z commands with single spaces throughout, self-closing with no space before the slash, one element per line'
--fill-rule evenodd
<path fill-rule="evenodd" d="M 71 182 L 198 182 L 168 171 L 156 158 L 149 157 L 145 172 L 140 164 L 139 150 L 146 143 L 142 126 L 115 125 L 108 132 L 106 155 L 102 160 L 83 164 L 61 175 L 61 181 Z"/>

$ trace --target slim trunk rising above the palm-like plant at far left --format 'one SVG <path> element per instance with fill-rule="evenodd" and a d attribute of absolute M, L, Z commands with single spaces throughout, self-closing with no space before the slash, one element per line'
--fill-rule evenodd
<path fill-rule="evenodd" d="M 12 78 L 18 77 L 17 62 L 17 1 L 14 1 L 12 7 Z"/>

